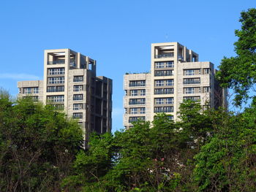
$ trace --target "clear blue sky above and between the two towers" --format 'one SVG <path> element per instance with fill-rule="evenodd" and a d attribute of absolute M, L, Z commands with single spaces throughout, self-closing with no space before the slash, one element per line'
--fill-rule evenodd
<path fill-rule="evenodd" d="M 42 80 L 43 50 L 70 48 L 113 79 L 113 131 L 123 128 L 125 72 L 150 70 L 151 43 L 180 42 L 215 67 L 234 55 L 240 12 L 255 0 L 23 0 L 0 4 L 0 87 Z"/>

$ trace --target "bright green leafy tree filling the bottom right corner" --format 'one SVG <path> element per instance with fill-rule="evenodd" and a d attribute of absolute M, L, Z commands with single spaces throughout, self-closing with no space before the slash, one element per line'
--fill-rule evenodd
<path fill-rule="evenodd" d="M 197 191 L 256 191 L 255 111 L 215 112 L 215 133 L 195 155 Z"/>

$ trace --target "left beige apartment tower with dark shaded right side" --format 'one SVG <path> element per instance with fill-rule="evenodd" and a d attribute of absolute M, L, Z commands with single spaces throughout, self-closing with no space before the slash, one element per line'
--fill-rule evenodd
<path fill-rule="evenodd" d="M 69 49 L 45 50 L 44 79 L 18 82 L 19 97 L 50 104 L 89 133 L 111 131 L 112 80 L 96 76 L 96 61 Z"/>

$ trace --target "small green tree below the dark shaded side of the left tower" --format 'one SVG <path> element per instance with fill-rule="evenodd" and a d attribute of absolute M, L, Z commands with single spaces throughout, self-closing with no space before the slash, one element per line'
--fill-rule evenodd
<path fill-rule="evenodd" d="M 76 155 L 73 171 L 62 182 L 62 188 L 66 191 L 106 191 L 102 177 L 113 166 L 113 135 L 91 134 L 89 149 Z"/>

